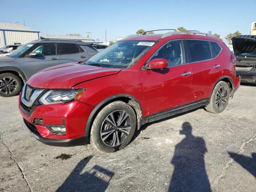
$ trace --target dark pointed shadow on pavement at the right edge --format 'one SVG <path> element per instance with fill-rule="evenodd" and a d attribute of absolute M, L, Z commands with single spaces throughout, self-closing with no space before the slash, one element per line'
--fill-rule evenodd
<path fill-rule="evenodd" d="M 252 153 L 252 157 L 228 152 L 229 156 L 238 164 L 245 168 L 250 174 L 256 177 L 256 153 Z"/>

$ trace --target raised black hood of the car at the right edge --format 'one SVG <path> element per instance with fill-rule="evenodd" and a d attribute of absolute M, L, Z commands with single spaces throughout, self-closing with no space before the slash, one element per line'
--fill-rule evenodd
<path fill-rule="evenodd" d="M 256 36 L 240 35 L 232 39 L 234 54 L 238 56 L 241 53 L 256 53 Z"/>

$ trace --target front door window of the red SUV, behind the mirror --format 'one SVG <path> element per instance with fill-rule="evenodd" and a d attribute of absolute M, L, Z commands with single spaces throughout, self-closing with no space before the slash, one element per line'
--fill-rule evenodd
<path fill-rule="evenodd" d="M 184 64 L 182 47 L 182 40 L 168 42 L 156 52 L 152 59 L 167 59 L 168 67 Z"/>

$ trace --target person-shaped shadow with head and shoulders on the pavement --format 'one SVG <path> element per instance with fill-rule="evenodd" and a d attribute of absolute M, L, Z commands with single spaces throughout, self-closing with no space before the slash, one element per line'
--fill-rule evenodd
<path fill-rule="evenodd" d="M 189 122 L 182 124 L 180 134 L 186 137 L 175 146 L 171 160 L 174 171 L 169 192 L 210 192 L 210 182 L 204 163 L 204 154 L 207 152 L 204 139 L 192 135 L 192 126 Z"/>

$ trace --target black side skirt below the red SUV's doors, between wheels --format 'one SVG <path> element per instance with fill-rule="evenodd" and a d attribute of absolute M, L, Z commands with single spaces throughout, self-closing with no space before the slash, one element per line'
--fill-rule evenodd
<path fill-rule="evenodd" d="M 199 108 L 200 106 L 205 106 L 209 103 L 209 99 L 205 99 L 205 100 L 201 100 L 201 101 L 197 101 L 188 105 L 184 105 L 181 107 L 177 107 L 177 108 L 173 108 L 164 112 L 160 112 L 158 114 L 153 114 L 150 116 L 146 116 L 144 118 L 142 118 L 142 122 L 141 125 L 146 124 L 148 122 L 153 122 L 153 121 L 157 121 L 160 119 L 164 119 L 164 118 L 168 118 L 170 116 L 174 116 L 189 110 L 193 110 L 196 108 Z"/>

